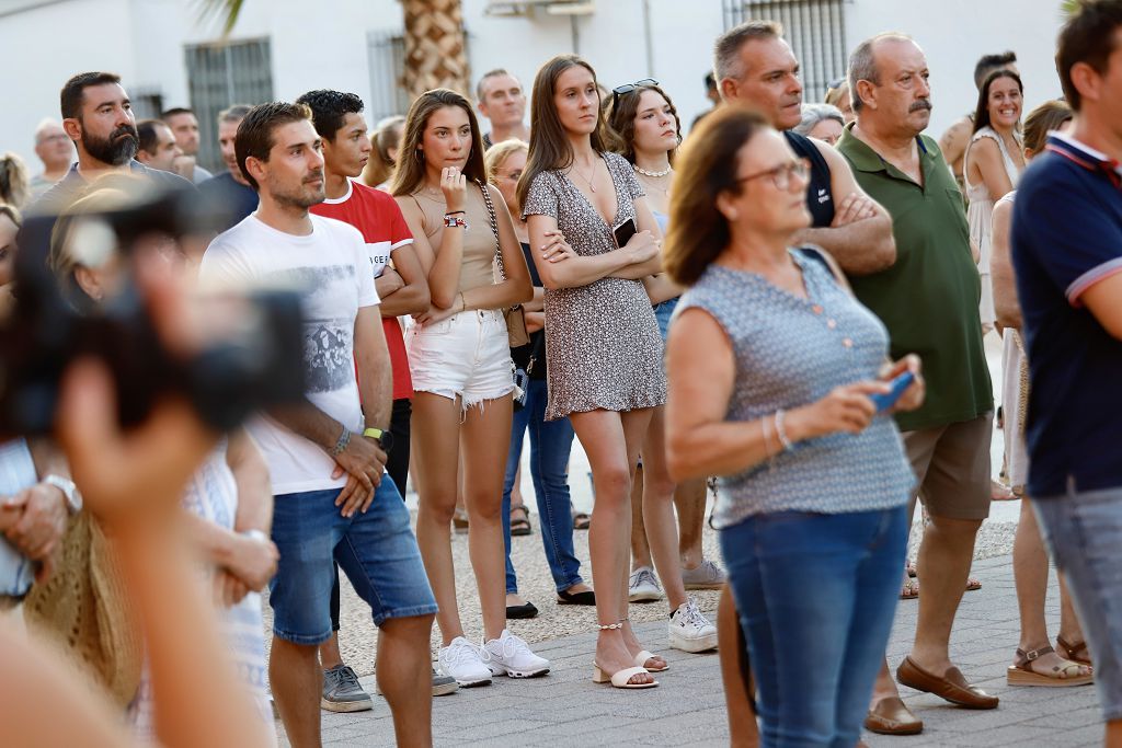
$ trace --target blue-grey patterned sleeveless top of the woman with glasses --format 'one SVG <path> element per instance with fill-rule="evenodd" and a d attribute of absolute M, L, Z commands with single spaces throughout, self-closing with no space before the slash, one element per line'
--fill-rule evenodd
<path fill-rule="evenodd" d="M 681 297 L 678 313 L 709 313 L 733 344 L 736 380 L 726 421 L 754 421 L 875 379 L 888 357 L 881 321 L 853 298 L 811 248 L 791 250 L 808 298 L 754 273 L 710 265 Z M 772 435 L 775 442 L 774 434 Z M 891 416 L 861 434 L 830 434 L 736 475 L 718 479 L 717 528 L 758 514 L 842 514 L 903 505 L 916 483 Z"/>

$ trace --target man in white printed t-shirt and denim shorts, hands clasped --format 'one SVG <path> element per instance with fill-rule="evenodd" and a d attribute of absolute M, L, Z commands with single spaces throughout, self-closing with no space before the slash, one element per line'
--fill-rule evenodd
<path fill-rule="evenodd" d="M 260 205 L 211 242 L 202 277 L 295 288 L 305 320 L 304 360 L 293 364 L 304 367 L 306 401 L 250 425 L 269 465 L 280 552 L 269 584 L 273 695 L 288 740 L 320 745 L 316 647 L 331 636 L 334 558 L 380 629 L 378 686 L 398 745 L 429 745 L 436 602 L 408 510 L 383 480 L 390 364 L 366 246 L 355 228 L 309 213 L 324 197 L 324 176 L 306 107 L 255 107 L 234 149 Z"/>

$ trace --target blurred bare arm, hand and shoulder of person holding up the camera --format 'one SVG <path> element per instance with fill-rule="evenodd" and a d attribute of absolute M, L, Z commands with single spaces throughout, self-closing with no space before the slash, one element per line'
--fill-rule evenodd
<path fill-rule="evenodd" d="M 184 295 L 158 265 L 142 264 L 139 273 L 149 312 L 165 343 L 190 348 Z M 57 424 L 84 508 L 108 528 L 125 589 L 140 613 L 160 694 L 160 744 L 270 745 L 224 653 L 180 510 L 184 487 L 218 435 L 178 398 L 165 399 L 145 423 L 122 432 L 110 375 L 90 360 L 66 372 Z M 132 745 L 118 710 L 91 693 L 55 652 L 25 640 L 6 622 L 0 622 L 0 724 L 12 745 Z"/>

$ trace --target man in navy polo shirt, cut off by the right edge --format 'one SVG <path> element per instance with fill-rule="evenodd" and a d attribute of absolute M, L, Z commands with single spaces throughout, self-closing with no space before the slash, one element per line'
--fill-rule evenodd
<path fill-rule="evenodd" d="M 1024 314 L 1029 495 L 1122 745 L 1122 0 L 1083 0 L 1056 52 L 1068 136 L 1021 179 L 1012 253 Z"/>

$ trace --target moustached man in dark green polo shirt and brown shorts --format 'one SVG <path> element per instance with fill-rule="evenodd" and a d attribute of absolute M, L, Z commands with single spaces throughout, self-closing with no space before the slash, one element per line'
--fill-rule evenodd
<path fill-rule="evenodd" d="M 950 662 L 974 538 L 990 514 L 993 389 L 977 316 L 981 283 L 971 251 L 962 194 L 936 141 L 920 135 L 931 117 L 922 49 L 885 34 L 849 58 L 857 120 L 837 148 L 857 183 L 892 215 L 895 264 L 850 278 L 857 297 L 889 329 L 892 358 L 923 360 L 927 400 L 898 416 L 919 492 L 931 518 L 917 567 L 922 582 L 911 654 L 898 680 L 974 709 L 997 699 L 971 686 Z M 900 701 L 885 663 L 866 728 L 918 732 L 922 722 Z"/>

